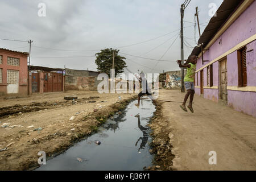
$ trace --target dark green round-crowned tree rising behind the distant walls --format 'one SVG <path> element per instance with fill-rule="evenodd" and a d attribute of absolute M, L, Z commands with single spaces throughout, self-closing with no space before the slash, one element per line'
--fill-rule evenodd
<path fill-rule="evenodd" d="M 112 69 L 113 63 L 113 51 L 114 49 L 108 48 L 103 49 L 101 52 L 95 54 L 96 60 L 95 63 L 97 64 L 97 69 L 100 72 L 106 73 L 110 77 L 110 69 Z M 125 57 L 118 55 L 119 50 L 115 49 L 115 59 L 114 59 L 114 69 L 115 69 L 115 76 L 118 73 L 123 72 L 123 68 L 126 68 Z"/>

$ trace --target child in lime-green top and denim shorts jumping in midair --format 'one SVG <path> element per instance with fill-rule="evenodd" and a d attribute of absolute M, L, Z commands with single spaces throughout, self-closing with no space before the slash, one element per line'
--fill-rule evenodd
<path fill-rule="evenodd" d="M 187 68 L 187 75 L 184 78 L 184 84 L 186 90 L 188 90 L 187 94 L 185 94 L 185 98 L 183 101 L 183 104 L 180 105 L 181 109 L 184 111 L 188 111 L 185 104 L 188 100 L 188 97 L 190 96 L 189 99 L 189 104 L 188 104 L 188 109 L 193 113 L 193 98 L 195 94 L 195 85 L 194 85 L 194 80 L 195 80 L 195 75 L 196 75 L 196 63 L 197 63 L 197 57 L 195 55 L 190 55 L 188 57 L 188 60 L 184 65 L 181 64 L 181 60 L 177 60 L 177 64 L 179 64 L 180 68 Z"/>

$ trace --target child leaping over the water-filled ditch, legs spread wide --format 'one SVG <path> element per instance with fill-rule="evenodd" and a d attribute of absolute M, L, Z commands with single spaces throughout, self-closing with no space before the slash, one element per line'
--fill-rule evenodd
<path fill-rule="evenodd" d="M 150 90 L 150 88 L 148 88 L 147 79 L 145 78 L 145 74 L 141 73 L 140 78 L 137 75 L 135 75 L 135 76 L 139 81 L 141 81 L 141 84 L 142 84 L 142 91 L 138 94 L 138 104 L 135 104 L 135 106 L 139 107 L 139 101 L 141 100 L 141 97 L 143 95 L 147 95 L 156 105 L 155 100 L 152 99 L 151 90 Z"/>

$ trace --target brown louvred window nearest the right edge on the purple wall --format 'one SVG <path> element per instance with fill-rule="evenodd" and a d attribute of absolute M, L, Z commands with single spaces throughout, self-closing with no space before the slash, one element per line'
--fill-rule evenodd
<path fill-rule="evenodd" d="M 247 86 L 246 47 L 237 51 L 238 86 Z"/>

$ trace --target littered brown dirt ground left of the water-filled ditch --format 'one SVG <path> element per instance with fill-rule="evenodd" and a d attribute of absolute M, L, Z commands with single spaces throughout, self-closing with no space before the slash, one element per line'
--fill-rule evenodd
<path fill-rule="evenodd" d="M 73 94 L 78 96 L 76 104 L 64 100 L 64 96 Z M 6 110 L 17 112 L 18 109 L 19 112 L 22 109 L 21 113 L 0 118 L 0 126 L 7 123 L 7 127 L 0 127 L 0 170 L 23 170 L 38 165 L 39 151 L 51 156 L 67 149 L 75 139 L 89 135 L 97 128 L 100 122 L 95 114 L 105 117 L 117 111 L 119 105 L 115 106 L 115 103 L 131 98 L 134 94 L 69 91 L 0 100 L 3 115 Z M 13 108 L 13 105 L 18 106 Z"/>

